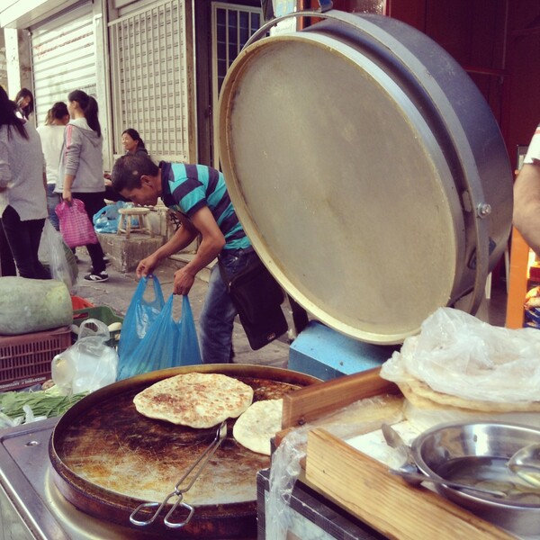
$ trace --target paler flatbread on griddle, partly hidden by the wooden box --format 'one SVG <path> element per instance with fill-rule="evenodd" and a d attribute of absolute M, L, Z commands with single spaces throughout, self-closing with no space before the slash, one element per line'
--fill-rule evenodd
<path fill-rule="evenodd" d="M 238 443 L 257 454 L 270 455 L 270 439 L 282 428 L 283 400 L 256 401 L 232 428 Z"/>

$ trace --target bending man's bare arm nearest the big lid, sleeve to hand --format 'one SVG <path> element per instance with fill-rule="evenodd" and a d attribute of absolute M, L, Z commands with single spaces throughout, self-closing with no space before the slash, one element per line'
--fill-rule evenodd
<path fill-rule="evenodd" d="M 195 281 L 195 275 L 218 257 L 225 246 L 225 237 L 208 206 L 203 206 L 193 214 L 192 223 L 201 233 L 202 241 L 193 260 L 175 272 L 173 287 L 175 294 L 188 294 Z"/>

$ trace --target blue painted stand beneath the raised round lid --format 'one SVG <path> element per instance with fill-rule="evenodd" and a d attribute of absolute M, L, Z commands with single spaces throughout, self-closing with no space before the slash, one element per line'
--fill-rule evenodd
<path fill-rule="evenodd" d="M 401 345 L 371 345 L 311 320 L 289 349 L 289 369 L 323 381 L 380 367 Z"/>

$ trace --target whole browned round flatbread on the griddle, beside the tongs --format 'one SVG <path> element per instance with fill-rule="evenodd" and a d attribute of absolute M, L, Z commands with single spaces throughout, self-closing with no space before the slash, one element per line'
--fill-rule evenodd
<path fill-rule="evenodd" d="M 235 419 L 253 401 L 253 389 L 221 374 L 183 374 L 139 392 L 133 403 L 140 414 L 191 428 L 211 428 Z"/>

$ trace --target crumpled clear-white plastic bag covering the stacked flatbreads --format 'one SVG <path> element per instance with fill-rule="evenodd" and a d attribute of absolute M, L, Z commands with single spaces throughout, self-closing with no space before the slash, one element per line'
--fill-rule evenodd
<path fill-rule="evenodd" d="M 394 383 L 422 381 L 466 400 L 538 401 L 540 332 L 505 329 L 452 308 L 439 308 L 383 364 Z"/>

